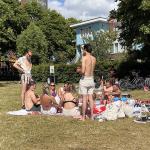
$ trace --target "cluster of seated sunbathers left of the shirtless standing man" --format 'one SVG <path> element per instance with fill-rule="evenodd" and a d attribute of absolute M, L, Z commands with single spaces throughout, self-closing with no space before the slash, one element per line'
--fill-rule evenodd
<path fill-rule="evenodd" d="M 25 93 L 25 108 L 27 111 L 41 112 L 43 114 L 62 113 L 65 116 L 79 116 L 80 111 L 76 99 L 74 86 L 70 83 L 60 87 L 58 92 L 55 84 L 43 85 L 43 93 L 35 94 L 36 83 L 31 81 Z"/>

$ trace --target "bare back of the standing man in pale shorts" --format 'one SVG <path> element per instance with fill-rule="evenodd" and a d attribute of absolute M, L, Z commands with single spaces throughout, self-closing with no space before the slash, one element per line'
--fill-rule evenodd
<path fill-rule="evenodd" d="M 96 58 L 92 55 L 86 55 L 82 59 L 82 73 L 86 77 L 94 75 L 94 69 L 96 65 Z"/>

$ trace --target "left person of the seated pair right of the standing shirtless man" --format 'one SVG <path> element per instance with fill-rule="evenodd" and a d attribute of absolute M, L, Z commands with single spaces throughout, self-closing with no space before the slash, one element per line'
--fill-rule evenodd
<path fill-rule="evenodd" d="M 112 83 L 110 81 L 107 81 L 106 84 L 104 85 L 104 91 L 103 91 L 104 105 L 110 102 L 112 91 L 113 91 Z"/>

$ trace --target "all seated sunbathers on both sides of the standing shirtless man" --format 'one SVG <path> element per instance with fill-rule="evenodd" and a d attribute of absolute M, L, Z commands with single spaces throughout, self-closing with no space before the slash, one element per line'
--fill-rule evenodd
<path fill-rule="evenodd" d="M 80 116 L 80 104 L 82 104 L 82 96 L 77 95 L 73 84 L 65 83 L 63 87 L 55 89 L 55 83 L 50 85 L 43 85 L 43 93 L 38 96 L 35 94 L 36 83 L 30 81 L 27 85 L 25 93 L 25 108 L 27 111 L 41 112 L 43 114 L 62 113 L 65 116 Z M 100 93 L 98 93 L 100 94 Z M 111 82 L 106 82 L 105 85 L 101 82 L 101 94 L 103 104 L 107 105 L 112 100 L 117 100 L 121 96 L 121 91 L 118 85 L 112 85 Z M 93 94 L 96 99 L 97 95 Z"/>

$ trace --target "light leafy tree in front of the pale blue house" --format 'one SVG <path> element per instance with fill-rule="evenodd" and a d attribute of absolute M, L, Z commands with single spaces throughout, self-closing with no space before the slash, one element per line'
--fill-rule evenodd
<path fill-rule="evenodd" d="M 93 33 L 92 38 L 85 39 L 93 48 L 93 55 L 97 60 L 105 60 L 109 58 L 113 42 L 116 40 L 116 32 L 97 32 Z"/>

